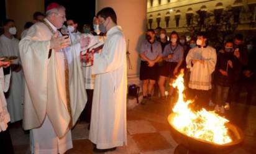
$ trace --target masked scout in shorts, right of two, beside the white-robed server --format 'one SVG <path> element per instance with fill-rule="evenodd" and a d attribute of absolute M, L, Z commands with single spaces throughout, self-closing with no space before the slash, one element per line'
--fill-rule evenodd
<path fill-rule="evenodd" d="M 165 49 L 163 50 L 163 60 L 165 61 L 165 63 L 160 68 L 160 77 L 158 79 L 158 85 L 162 101 L 165 101 L 166 99 L 165 81 L 167 80 L 168 77 L 170 77 L 170 85 L 173 83 L 174 79 L 176 78 L 176 75 L 178 75 L 178 72 L 180 70 L 184 54 L 183 47 L 180 45 L 180 43 L 178 43 L 178 33 L 176 33 L 175 31 L 171 32 L 170 38 L 170 43 L 168 43 L 168 45 L 165 46 Z M 170 99 L 171 95 L 173 94 L 173 91 L 173 86 L 170 86 L 168 99 Z"/>

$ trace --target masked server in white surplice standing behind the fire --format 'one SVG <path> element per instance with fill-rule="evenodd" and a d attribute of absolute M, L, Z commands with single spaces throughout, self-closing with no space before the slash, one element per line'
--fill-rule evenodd
<path fill-rule="evenodd" d="M 216 50 L 208 45 L 204 32 L 197 34 L 197 47 L 191 48 L 186 56 L 186 67 L 190 69 L 188 87 L 191 99 L 195 99 L 198 108 L 208 108 L 211 97 L 211 75 L 217 61 Z"/>

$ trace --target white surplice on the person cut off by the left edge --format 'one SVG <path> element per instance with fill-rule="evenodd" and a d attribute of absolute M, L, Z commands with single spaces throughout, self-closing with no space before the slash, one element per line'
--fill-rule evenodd
<path fill-rule="evenodd" d="M 6 97 L 4 92 L 8 91 L 10 84 L 11 73 L 4 75 L 2 67 L 0 68 L 0 132 L 7 129 L 7 124 L 10 121 L 9 112 L 6 105 Z"/>

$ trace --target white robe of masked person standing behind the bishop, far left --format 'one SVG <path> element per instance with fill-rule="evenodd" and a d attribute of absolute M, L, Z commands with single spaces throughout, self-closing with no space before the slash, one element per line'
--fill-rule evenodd
<path fill-rule="evenodd" d="M 0 56 L 19 57 L 19 40 L 15 37 L 7 38 L 4 34 L 0 37 Z M 20 64 L 21 61 L 15 60 L 14 63 Z M 24 78 L 22 70 L 12 71 L 11 83 L 6 96 L 7 107 L 11 117 L 11 122 L 23 119 L 24 102 Z"/>

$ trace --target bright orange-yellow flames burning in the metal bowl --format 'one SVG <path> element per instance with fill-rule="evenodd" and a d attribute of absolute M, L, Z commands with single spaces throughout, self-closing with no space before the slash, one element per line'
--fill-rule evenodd
<path fill-rule="evenodd" d="M 214 111 L 201 109 L 201 111 L 195 112 L 188 107 L 192 101 L 184 101 L 183 73 L 178 76 L 172 85 L 174 88 L 178 88 L 178 101 L 172 109 L 175 117 L 170 121 L 176 130 L 190 137 L 220 145 L 232 142 L 225 126 L 229 120 L 217 115 Z"/>

